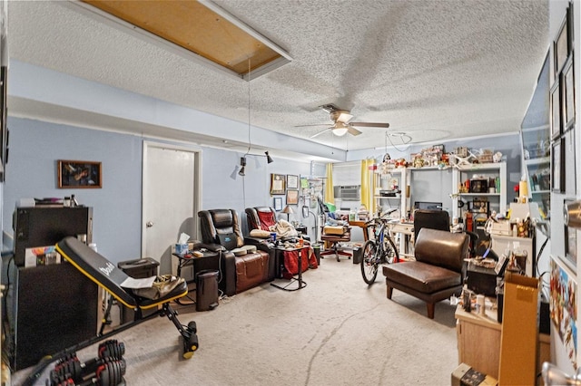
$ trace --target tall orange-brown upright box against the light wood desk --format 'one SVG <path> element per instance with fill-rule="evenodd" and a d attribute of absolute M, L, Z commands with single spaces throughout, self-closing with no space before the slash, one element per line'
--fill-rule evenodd
<path fill-rule="evenodd" d="M 538 279 L 507 272 L 500 335 L 498 381 L 534 385 L 537 381 Z"/>

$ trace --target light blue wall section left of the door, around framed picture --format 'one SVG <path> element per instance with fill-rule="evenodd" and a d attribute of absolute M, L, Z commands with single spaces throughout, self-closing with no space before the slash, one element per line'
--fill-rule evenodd
<path fill-rule="evenodd" d="M 94 207 L 93 240 L 114 261 L 140 256 L 142 140 L 71 126 L 9 119 L 10 153 L 4 184 L 4 230 L 20 198 L 63 198 Z M 57 188 L 57 159 L 102 162 L 103 188 Z"/>

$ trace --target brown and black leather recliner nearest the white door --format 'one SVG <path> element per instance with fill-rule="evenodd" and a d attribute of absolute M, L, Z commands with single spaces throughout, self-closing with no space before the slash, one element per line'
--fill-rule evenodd
<path fill-rule="evenodd" d="M 235 210 L 201 210 L 198 217 L 204 245 L 208 249 L 222 250 L 220 289 L 224 294 L 239 294 L 273 278 L 273 251 L 268 246 L 259 245 L 256 252 L 242 256 L 232 253 L 232 249 L 245 245 Z"/>

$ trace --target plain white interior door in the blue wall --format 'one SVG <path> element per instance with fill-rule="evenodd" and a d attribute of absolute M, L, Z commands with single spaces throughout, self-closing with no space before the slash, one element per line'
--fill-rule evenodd
<path fill-rule="evenodd" d="M 198 236 L 201 152 L 161 143 L 143 143 L 142 256 L 172 273 L 172 246 L 186 233 Z"/>

